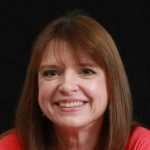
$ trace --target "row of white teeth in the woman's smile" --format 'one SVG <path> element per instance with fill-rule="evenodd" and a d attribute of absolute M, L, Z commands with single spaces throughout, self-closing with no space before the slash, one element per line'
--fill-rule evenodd
<path fill-rule="evenodd" d="M 66 107 L 66 108 L 70 108 L 70 107 L 77 107 L 77 106 L 81 106 L 83 105 L 83 102 L 60 102 L 59 106 L 60 107 Z"/>

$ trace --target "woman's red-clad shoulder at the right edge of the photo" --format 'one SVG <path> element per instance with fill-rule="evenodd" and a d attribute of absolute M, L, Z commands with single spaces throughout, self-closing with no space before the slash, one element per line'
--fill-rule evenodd
<path fill-rule="evenodd" d="M 137 126 L 131 135 L 127 150 L 150 150 L 150 130 Z"/>

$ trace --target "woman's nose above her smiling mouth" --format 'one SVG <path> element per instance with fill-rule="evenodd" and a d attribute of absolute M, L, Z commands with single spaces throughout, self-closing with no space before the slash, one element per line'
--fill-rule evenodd
<path fill-rule="evenodd" d="M 78 90 L 78 79 L 75 73 L 68 71 L 64 73 L 59 84 L 59 91 L 64 95 L 70 95 Z"/>

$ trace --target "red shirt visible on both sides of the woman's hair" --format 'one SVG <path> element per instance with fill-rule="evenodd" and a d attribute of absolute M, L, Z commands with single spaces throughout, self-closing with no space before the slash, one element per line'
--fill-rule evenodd
<path fill-rule="evenodd" d="M 0 150 L 22 150 L 15 132 L 10 132 L 0 138 Z M 150 130 L 136 127 L 126 150 L 150 150 Z"/>

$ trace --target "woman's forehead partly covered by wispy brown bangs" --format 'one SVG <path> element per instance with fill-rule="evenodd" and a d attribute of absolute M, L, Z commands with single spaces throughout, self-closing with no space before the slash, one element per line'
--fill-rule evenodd
<path fill-rule="evenodd" d="M 41 64 L 96 64 L 82 48 L 73 47 L 66 41 L 51 41 L 46 47 Z"/>

